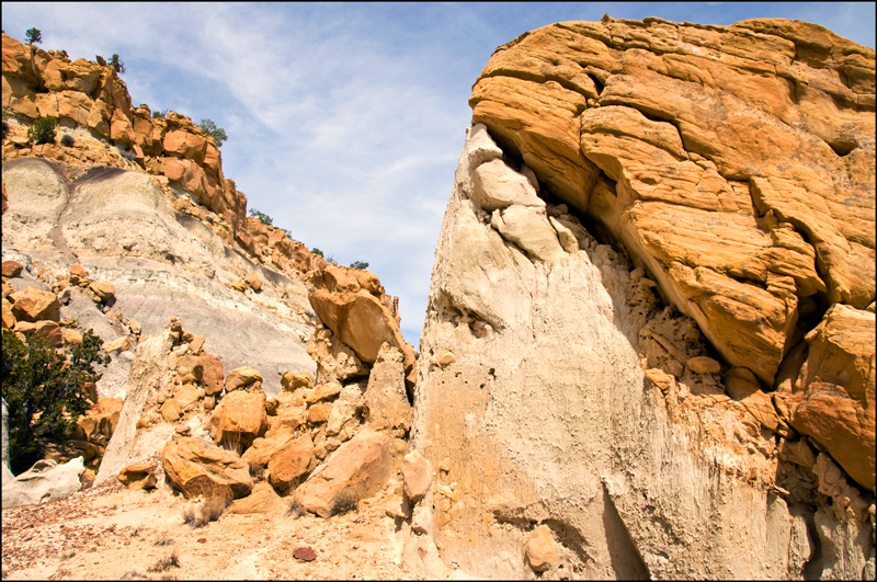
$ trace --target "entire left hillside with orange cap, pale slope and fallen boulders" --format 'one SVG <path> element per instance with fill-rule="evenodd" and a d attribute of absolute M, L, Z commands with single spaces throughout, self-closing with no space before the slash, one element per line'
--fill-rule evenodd
<path fill-rule="evenodd" d="M 276 490 L 329 516 L 395 487 L 417 368 L 374 273 L 248 218 L 212 138 L 132 107 L 112 67 L 3 35 L 3 327 L 58 346 L 91 329 L 112 356 L 53 458 L 246 512 Z M 64 137 L 33 145 L 46 115 Z"/>

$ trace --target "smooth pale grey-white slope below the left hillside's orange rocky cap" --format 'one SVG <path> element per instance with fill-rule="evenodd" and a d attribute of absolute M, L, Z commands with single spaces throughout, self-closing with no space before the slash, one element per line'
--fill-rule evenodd
<path fill-rule="evenodd" d="M 81 264 L 92 281 L 115 286 L 112 309 L 139 321 L 144 335 L 161 333 L 176 317 L 206 339 L 205 350 L 226 372 L 257 367 L 270 397 L 287 369 L 316 372 L 305 350 L 312 327 L 289 307 L 309 305 L 305 285 L 254 263 L 200 220 L 175 212 L 149 175 L 92 168 L 71 183 L 59 164 L 25 158 L 3 164 L 3 184 L 4 260 L 27 256 L 58 275 Z M 260 293 L 226 285 L 251 273 L 265 283 Z M 104 341 L 123 333 L 76 290 L 62 316 Z M 100 395 L 123 396 L 128 369 L 129 361 L 114 362 Z"/>

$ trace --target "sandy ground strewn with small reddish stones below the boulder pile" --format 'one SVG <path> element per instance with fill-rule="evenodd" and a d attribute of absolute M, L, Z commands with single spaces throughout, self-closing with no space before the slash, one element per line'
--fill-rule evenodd
<path fill-rule="evenodd" d="M 2 578 L 418 580 L 402 566 L 408 533 L 380 502 L 378 495 L 329 520 L 226 512 L 195 528 L 183 521 L 184 499 L 167 486 L 147 493 L 103 484 L 3 509 Z M 316 559 L 296 559 L 303 547 Z"/>

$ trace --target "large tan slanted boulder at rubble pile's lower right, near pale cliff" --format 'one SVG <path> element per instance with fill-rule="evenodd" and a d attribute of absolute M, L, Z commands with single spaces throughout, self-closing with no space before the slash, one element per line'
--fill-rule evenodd
<path fill-rule="evenodd" d="M 392 471 L 389 446 L 386 432 L 360 431 L 298 488 L 299 501 L 309 512 L 329 517 L 340 506 L 378 492 Z"/>

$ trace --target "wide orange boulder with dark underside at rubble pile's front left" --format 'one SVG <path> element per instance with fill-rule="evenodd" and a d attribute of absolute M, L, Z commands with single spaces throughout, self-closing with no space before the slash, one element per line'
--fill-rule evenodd
<path fill-rule="evenodd" d="M 200 438 L 180 437 L 161 450 L 164 475 L 186 499 L 229 493 L 229 499 L 250 494 L 249 466 L 234 453 Z"/>

